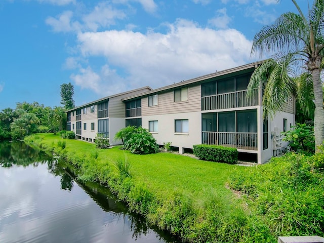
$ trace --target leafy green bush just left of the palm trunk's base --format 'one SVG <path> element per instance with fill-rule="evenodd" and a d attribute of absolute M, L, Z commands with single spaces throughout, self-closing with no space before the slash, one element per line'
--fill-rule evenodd
<path fill-rule="evenodd" d="M 297 123 L 287 132 L 282 132 L 285 136 L 282 140 L 290 142 L 290 147 L 295 152 L 313 154 L 315 152 L 314 127 Z"/>

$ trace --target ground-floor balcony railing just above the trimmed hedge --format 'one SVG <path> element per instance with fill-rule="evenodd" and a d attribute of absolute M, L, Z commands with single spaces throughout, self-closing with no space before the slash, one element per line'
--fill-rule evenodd
<path fill-rule="evenodd" d="M 201 135 L 203 144 L 246 150 L 258 149 L 258 133 L 202 132 Z"/>

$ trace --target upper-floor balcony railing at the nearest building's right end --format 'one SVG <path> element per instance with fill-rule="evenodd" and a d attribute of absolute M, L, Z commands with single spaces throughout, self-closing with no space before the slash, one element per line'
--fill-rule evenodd
<path fill-rule="evenodd" d="M 252 92 L 251 98 L 247 98 L 247 90 L 201 97 L 201 110 L 218 110 L 258 105 L 259 91 L 258 89 L 254 89 Z"/>

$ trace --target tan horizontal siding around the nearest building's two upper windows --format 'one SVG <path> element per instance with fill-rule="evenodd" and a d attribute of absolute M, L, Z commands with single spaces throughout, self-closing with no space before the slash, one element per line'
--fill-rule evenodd
<path fill-rule="evenodd" d="M 173 91 L 158 94 L 158 105 L 150 107 L 148 107 L 147 97 L 142 98 L 142 116 L 200 111 L 200 85 L 189 87 L 188 98 L 187 102 L 173 102 Z"/>

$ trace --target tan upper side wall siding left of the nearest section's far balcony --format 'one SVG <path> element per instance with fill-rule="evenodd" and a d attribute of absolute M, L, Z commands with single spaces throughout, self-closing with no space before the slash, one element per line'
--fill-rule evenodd
<path fill-rule="evenodd" d="M 150 89 L 145 88 L 142 90 L 137 90 L 134 92 L 129 92 L 127 94 L 118 95 L 116 97 L 109 99 L 109 117 L 125 117 L 125 103 L 121 101 L 126 97 L 139 95 L 144 92 L 150 91 Z"/>

